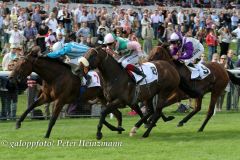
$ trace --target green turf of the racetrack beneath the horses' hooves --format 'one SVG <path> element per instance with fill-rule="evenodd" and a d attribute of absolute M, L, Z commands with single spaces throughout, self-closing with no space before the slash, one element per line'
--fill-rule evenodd
<path fill-rule="evenodd" d="M 171 113 L 171 115 L 174 114 Z M 139 129 L 135 137 L 128 136 L 129 130 L 138 119 L 137 117 L 124 117 L 123 126 L 126 131 L 122 135 L 104 127 L 104 137 L 101 142 L 120 142 L 120 147 L 78 146 L 80 140 L 96 141 L 98 119 L 60 119 L 49 140 L 43 138 L 48 121 L 27 120 L 20 130 L 15 130 L 15 123 L 4 122 L 0 123 L 0 159 L 240 159 L 239 113 L 217 114 L 203 133 L 197 133 L 196 130 L 205 115 L 198 114 L 182 128 L 177 128 L 176 124 L 183 118 L 183 115 L 175 116 L 176 119 L 171 122 L 160 121 L 147 139 L 141 138 L 145 131 L 144 128 Z M 109 121 L 115 122 L 115 120 Z M 34 148 L 17 146 L 17 142 L 19 145 L 24 145 L 26 142 L 38 141 L 41 143 L 52 142 L 52 145 Z M 58 145 L 59 141 L 63 141 L 65 146 Z M 76 146 L 67 146 L 68 142 L 75 143 Z M 109 143 L 109 145 L 111 144 Z"/>

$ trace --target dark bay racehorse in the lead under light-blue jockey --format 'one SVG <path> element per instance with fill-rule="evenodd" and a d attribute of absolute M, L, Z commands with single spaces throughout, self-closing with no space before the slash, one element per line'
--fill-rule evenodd
<path fill-rule="evenodd" d="M 51 130 L 57 120 L 57 117 L 65 104 L 74 102 L 77 98 L 81 101 L 87 101 L 93 98 L 99 98 L 103 104 L 106 104 L 103 89 L 101 87 L 92 87 L 85 89 L 80 93 L 81 81 L 78 76 L 71 72 L 71 67 L 59 60 L 37 55 L 39 48 L 34 48 L 30 54 L 20 58 L 14 71 L 9 76 L 10 82 L 21 82 L 32 72 L 37 73 L 42 79 L 42 88 L 37 100 L 21 115 L 16 123 L 16 128 L 21 127 L 21 122 L 27 114 L 35 107 L 45 103 L 54 102 L 54 111 L 49 122 L 45 138 L 49 138 Z M 133 109 L 141 116 L 139 108 Z M 118 120 L 118 126 L 122 125 L 122 114 L 119 110 L 114 110 L 113 114 Z M 116 127 L 104 123 L 111 130 L 117 131 Z M 122 129 L 124 130 L 124 129 Z M 121 133 L 121 131 L 119 131 Z"/>

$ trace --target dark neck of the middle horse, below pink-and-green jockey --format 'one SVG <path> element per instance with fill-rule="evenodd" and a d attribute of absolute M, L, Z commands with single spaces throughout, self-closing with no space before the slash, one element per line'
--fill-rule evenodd
<path fill-rule="evenodd" d="M 124 77 L 128 79 L 127 72 L 110 55 L 102 61 L 98 69 L 106 82 L 119 80 L 119 77 L 121 77 L 121 80 L 123 80 Z"/>

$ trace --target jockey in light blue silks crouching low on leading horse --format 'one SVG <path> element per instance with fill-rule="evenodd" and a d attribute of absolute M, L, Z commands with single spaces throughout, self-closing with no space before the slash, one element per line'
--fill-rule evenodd
<path fill-rule="evenodd" d="M 80 65 L 80 63 L 82 63 L 85 72 L 88 71 L 89 64 L 86 60 L 84 61 L 84 57 L 81 56 L 83 56 L 89 49 L 90 48 L 88 46 L 76 42 L 70 42 L 65 44 L 63 44 L 62 42 L 56 42 L 52 47 L 53 52 L 48 53 L 47 56 L 50 58 L 67 56 L 70 59 L 78 59 L 78 64 Z M 85 85 L 88 86 L 91 82 L 91 77 L 87 74 L 84 74 L 84 78 L 87 81 Z"/>

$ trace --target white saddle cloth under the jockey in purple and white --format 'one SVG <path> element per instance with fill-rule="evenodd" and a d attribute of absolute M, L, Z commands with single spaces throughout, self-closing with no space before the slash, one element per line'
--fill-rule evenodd
<path fill-rule="evenodd" d="M 201 63 L 195 64 L 194 66 L 195 68 L 188 66 L 189 70 L 191 71 L 191 79 L 200 77 L 202 80 L 211 73 L 210 69 Z"/>

